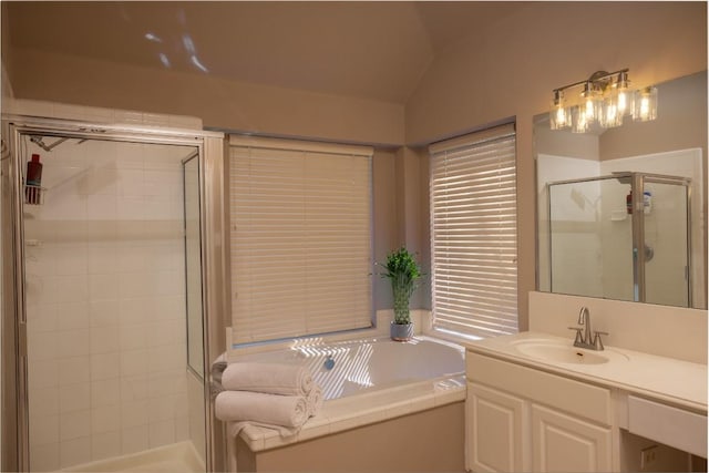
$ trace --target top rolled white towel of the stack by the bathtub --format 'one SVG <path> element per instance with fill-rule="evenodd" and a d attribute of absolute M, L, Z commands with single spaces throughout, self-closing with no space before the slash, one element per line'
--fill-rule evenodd
<path fill-rule="evenodd" d="M 312 376 L 298 364 L 237 362 L 226 367 L 222 384 L 230 391 L 307 395 L 312 389 Z"/>

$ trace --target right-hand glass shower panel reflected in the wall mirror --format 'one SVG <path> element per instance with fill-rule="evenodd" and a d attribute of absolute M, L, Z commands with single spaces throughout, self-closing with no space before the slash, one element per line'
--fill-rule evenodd
<path fill-rule="evenodd" d="M 689 187 L 645 178 L 645 301 L 691 307 Z"/>

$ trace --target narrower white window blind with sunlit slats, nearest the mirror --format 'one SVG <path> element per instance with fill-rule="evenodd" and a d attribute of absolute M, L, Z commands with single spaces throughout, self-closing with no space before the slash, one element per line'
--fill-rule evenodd
<path fill-rule="evenodd" d="M 434 327 L 474 337 L 517 331 L 514 125 L 430 147 Z"/>

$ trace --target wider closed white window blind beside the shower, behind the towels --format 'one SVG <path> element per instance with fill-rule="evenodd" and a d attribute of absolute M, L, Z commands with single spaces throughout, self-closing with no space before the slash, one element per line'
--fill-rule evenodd
<path fill-rule="evenodd" d="M 236 342 L 371 326 L 371 156 L 230 137 Z"/>

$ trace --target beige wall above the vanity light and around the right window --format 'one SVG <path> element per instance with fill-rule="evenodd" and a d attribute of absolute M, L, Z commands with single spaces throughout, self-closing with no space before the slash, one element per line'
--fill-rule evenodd
<path fill-rule="evenodd" d="M 521 329 L 535 285 L 533 116 L 553 89 L 621 68 L 636 86 L 707 69 L 707 4 L 531 2 L 438 56 L 407 103 L 409 144 L 516 117 Z"/>

